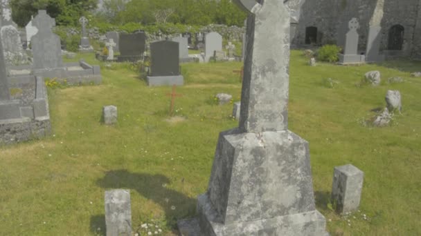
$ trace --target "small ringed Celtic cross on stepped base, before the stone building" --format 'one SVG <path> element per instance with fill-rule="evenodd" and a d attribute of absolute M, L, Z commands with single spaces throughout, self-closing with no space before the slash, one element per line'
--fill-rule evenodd
<path fill-rule="evenodd" d="M 339 63 L 341 64 L 364 63 L 365 56 L 358 55 L 357 30 L 359 29 L 359 22 L 357 18 L 352 18 L 348 22 L 348 28 L 349 28 L 349 31 L 346 33 L 343 54 L 339 54 Z"/>

